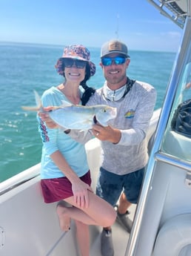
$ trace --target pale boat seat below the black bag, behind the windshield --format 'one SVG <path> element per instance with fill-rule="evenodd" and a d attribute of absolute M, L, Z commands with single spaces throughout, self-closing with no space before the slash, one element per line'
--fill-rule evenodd
<path fill-rule="evenodd" d="M 167 154 L 184 160 L 191 160 L 191 138 L 178 134 L 175 131 L 167 131 L 164 137 L 163 148 Z"/>

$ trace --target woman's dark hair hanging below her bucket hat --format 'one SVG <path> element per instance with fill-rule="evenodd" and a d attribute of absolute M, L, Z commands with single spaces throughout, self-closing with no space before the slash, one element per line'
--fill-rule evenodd
<path fill-rule="evenodd" d="M 64 70 L 64 63 L 62 63 L 62 68 Z M 63 76 L 65 77 L 65 74 L 63 72 Z M 81 81 L 80 85 L 84 88 L 84 93 L 81 97 L 81 104 L 82 105 L 86 105 L 86 103 L 88 102 L 88 100 L 90 99 L 90 96 L 93 95 L 93 93 L 95 93 L 96 89 L 87 86 L 87 80 L 90 79 L 91 73 L 90 73 L 90 65 L 87 62 L 86 65 L 86 69 L 85 69 L 85 77 L 84 80 Z"/>

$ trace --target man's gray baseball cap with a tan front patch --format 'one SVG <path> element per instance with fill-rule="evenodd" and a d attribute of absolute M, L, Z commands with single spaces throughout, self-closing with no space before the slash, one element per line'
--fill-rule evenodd
<path fill-rule="evenodd" d="M 101 58 L 110 53 L 120 53 L 130 58 L 128 55 L 127 45 L 118 40 L 111 40 L 110 42 L 105 42 L 101 47 Z"/>

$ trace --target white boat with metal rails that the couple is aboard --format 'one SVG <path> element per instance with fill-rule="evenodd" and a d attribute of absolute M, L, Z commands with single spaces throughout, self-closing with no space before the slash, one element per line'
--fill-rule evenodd
<path fill-rule="evenodd" d="M 113 225 L 115 256 L 190 256 L 191 137 L 172 129 L 172 120 L 191 81 L 191 1 L 147 1 L 182 28 L 182 39 L 164 103 L 150 121 L 150 158 L 138 204 L 130 209 L 132 231 Z M 85 146 L 95 190 L 100 143 L 94 138 Z M 61 231 L 56 203 L 43 201 L 39 171 L 40 163 L 0 183 L 0 255 L 79 256 L 75 225 Z M 90 226 L 91 256 L 101 256 L 100 233 Z"/>

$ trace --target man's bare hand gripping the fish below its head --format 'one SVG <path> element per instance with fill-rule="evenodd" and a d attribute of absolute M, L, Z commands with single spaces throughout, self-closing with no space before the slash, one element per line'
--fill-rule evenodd
<path fill-rule="evenodd" d="M 98 140 L 107 140 L 117 144 L 121 140 L 121 131 L 111 126 L 93 125 L 93 135 Z"/>

